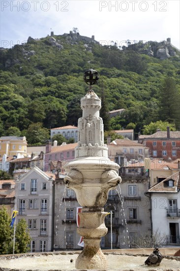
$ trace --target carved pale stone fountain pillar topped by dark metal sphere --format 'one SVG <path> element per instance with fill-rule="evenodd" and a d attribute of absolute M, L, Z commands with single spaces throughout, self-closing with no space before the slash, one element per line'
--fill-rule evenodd
<path fill-rule="evenodd" d="M 103 206 L 108 193 L 116 189 L 121 178 L 118 164 L 108 159 L 108 148 L 104 144 L 103 121 L 99 116 L 101 100 L 92 90 L 98 80 L 97 71 L 85 71 L 84 80 L 90 90 L 81 99 L 82 118 L 78 120 L 78 146 L 75 159 L 66 166 L 66 187 L 76 193 L 78 203 L 83 207 L 78 234 L 84 237 L 84 248 L 76 260 L 77 269 L 106 269 L 107 260 L 100 248 L 102 236 L 108 229 L 104 224 Z"/>

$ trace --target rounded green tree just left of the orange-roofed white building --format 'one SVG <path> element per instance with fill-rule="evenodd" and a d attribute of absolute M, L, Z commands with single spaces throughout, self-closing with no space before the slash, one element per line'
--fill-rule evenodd
<path fill-rule="evenodd" d="M 26 137 L 29 144 L 44 144 L 49 139 L 49 130 L 42 127 L 42 123 L 32 123 L 26 131 Z"/>

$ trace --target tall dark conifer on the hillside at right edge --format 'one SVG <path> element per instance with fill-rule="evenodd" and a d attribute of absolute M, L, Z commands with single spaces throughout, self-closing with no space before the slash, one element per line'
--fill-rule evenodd
<path fill-rule="evenodd" d="M 176 127 L 180 129 L 180 92 L 174 78 L 164 79 L 159 91 L 159 100 L 159 118 L 162 121 L 175 123 Z"/>

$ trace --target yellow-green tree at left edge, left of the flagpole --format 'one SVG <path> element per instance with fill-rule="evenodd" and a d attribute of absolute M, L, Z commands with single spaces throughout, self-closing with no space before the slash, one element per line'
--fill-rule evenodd
<path fill-rule="evenodd" d="M 5 206 L 0 208 L 0 254 L 9 254 L 12 245 L 13 229 L 10 227 L 11 217 Z"/>

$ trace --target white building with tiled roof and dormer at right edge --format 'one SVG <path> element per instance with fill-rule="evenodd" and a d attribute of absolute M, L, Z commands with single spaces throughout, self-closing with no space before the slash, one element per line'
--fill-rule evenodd
<path fill-rule="evenodd" d="M 180 171 L 151 187 L 149 193 L 152 233 L 157 243 L 180 246 Z"/>

